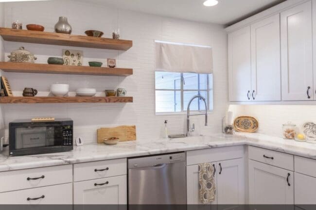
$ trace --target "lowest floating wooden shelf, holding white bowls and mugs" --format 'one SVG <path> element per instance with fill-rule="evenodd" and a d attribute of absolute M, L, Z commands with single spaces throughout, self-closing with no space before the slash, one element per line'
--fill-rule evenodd
<path fill-rule="evenodd" d="M 133 97 L 0 97 L 0 104 L 131 102 Z"/>

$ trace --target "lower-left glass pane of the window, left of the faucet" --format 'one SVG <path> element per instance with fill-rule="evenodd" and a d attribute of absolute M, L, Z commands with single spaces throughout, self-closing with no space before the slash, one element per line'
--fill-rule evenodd
<path fill-rule="evenodd" d="M 156 113 L 181 112 L 181 91 L 156 91 Z"/>

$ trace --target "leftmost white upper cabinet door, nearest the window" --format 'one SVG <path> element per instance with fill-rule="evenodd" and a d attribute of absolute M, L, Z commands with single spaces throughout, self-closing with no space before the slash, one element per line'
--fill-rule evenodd
<path fill-rule="evenodd" d="M 230 101 L 251 100 L 250 26 L 228 34 Z"/>

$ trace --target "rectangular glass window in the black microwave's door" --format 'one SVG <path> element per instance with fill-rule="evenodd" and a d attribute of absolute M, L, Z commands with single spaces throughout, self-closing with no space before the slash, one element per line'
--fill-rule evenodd
<path fill-rule="evenodd" d="M 46 145 L 46 127 L 17 128 L 16 149 Z"/>

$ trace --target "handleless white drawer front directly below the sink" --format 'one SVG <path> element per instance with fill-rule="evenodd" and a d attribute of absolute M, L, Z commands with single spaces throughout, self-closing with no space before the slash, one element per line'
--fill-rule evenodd
<path fill-rule="evenodd" d="M 244 154 L 245 147 L 243 145 L 193 150 L 187 152 L 187 165 L 243 158 Z"/>

